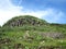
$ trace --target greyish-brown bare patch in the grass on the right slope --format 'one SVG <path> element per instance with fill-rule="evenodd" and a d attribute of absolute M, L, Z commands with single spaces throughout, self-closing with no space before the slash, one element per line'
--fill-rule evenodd
<path fill-rule="evenodd" d="M 64 38 L 64 35 L 62 33 L 40 33 L 43 37 L 51 37 L 51 38 Z"/>

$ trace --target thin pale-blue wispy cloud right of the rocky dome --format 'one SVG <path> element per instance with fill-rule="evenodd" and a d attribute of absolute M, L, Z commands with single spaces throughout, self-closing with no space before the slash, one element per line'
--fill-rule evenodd
<path fill-rule="evenodd" d="M 63 23 L 65 14 L 62 11 L 51 9 L 46 11 L 46 14 L 42 19 L 46 20 L 50 23 Z"/>

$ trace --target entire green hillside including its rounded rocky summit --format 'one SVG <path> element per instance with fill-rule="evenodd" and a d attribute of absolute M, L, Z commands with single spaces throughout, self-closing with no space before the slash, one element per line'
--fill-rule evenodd
<path fill-rule="evenodd" d="M 66 49 L 66 24 L 21 15 L 0 27 L 0 49 Z"/>

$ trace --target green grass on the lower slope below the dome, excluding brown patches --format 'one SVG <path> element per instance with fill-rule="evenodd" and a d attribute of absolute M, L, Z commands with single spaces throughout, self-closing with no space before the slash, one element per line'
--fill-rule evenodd
<path fill-rule="evenodd" d="M 31 27 L 31 28 L 29 28 Z M 48 27 L 48 28 L 47 28 Z M 44 47 L 57 47 L 57 46 L 66 46 L 66 39 L 54 39 L 54 38 L 47 38 L 47 37 L 43 37 L 41 36 L 38 33 L 45 33 L 45 32 L 50 32 L 50 29 L 52 29 L 51 32 L 61 32 L 57 30 L 56 28 L 50 27 L 50 26 L 45 26 L 44 27 L 33 27 L 33 26 L 28 26 L 28 29 L 25 29 L 25 26 L 23 27 L 14 27 L 14 28 L 1 28 L 1 34 L 2 37 L 1 38 L 9 38 L 11 39 L 11 44 L 10 46 L 12 47 L 12 49 L 14 49 L 14 45 L 15 44 L 22 44 L 25 48 L 24 49 L 36 49 L 38 46 L 44 46 Z M 35 28 L 35 29 L 33 29 Z M 59 28 L 61 29 L 61 28 Z M 29 35 L 30 37 L 33 37 L 33 39 L 31 38 L 24 38 L 26 30 L 29 30 Z M 63 32 L 63 30 L 62 30 Z M 65 34 L 65 33 L 63 33 Z M 59 41 L 58 41 L 59 40 Z M 63 42 L 61 42 L 61 40 Z M 44 41 L 43 44 L 41 44 L 42 41 Z M 9 45 L 8 44 L 8 45 Z M 4 49 L 9 49 L 7 45 L 1 44 L 1 47 L 4 47 Z"/>

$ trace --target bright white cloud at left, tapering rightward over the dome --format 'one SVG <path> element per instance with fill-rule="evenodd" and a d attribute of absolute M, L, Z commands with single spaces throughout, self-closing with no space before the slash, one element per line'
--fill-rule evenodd
<path fill-rule="evenodd" d="M 20 4 L 20 3 L 19 3 Z M 42 15 L 45 14 L 44 11 L 22 11 L 23 7 L 15 7 L 13 5 L 10 0 L 0 0 L 0 25 L 3 25 L 8 20 L 15 15 L 23 15 L 23 14 L 29 14 L 29 15 L 34 15 L 37 17 L 41 17 Z"/>

